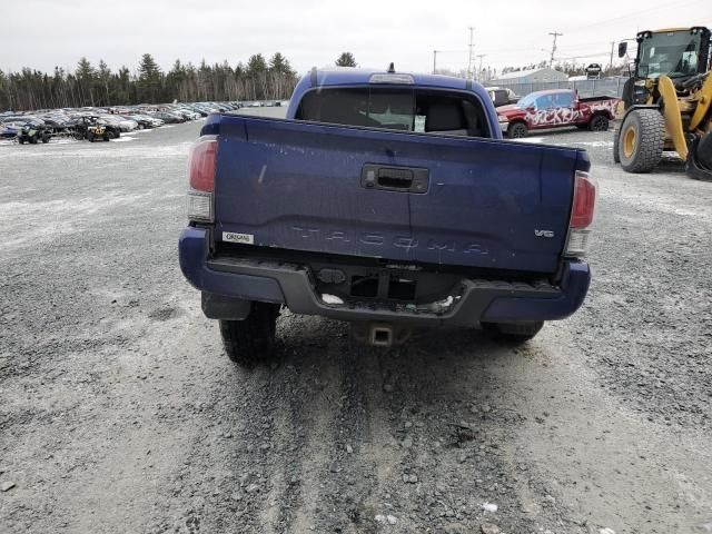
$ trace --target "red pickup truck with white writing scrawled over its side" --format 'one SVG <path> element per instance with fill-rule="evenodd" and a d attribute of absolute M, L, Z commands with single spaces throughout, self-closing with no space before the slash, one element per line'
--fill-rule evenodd
<path fill-rule="evenodd" d="M 578 98 L 571 89 L 550 89 L 527 95 L 511 106 L 497 108 L 503 134 L 511 139 L 525 137 L 530 130 L 577 126 L 605 131 L 621 101 L 613 97 Z"/>

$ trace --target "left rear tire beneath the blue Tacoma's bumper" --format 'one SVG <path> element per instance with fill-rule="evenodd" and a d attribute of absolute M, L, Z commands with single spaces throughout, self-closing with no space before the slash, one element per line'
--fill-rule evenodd
<path fill-rule="evenodd" d="M 269 359 L 275 350 L 278 304 L 253 303 L 245 320 L 220 320 L 227 357 L 241 367 Z"/>

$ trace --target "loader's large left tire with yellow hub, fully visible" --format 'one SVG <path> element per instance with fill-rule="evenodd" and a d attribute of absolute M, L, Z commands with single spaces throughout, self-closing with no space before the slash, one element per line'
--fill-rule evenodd
<path fill-rule="evenodd" d="M 619 157 L 627 172 L 650 172 L 663 157 L 665 119 L 656 109 L 631 111 L 621 127 Z"/>

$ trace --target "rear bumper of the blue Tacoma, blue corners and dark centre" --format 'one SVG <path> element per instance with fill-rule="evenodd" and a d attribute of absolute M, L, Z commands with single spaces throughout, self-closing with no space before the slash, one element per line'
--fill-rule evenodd
<path fill-rule="evenodd" d="M 360 303 L 330 305 L 317 295 L 308 270 L 300 265 L 254 258 L 209 259 L 208 245 L 208 231 L 201 228 L 186 228 L 180 236 L 180 268 L 195 288 L 226 297 L 285 304 L 295 314 L 340 320 L 455 327 L 476 326 L 481 322 L 563 319 L 578 309 L 591 280 L 587 264 L 570 261 L 557 287 L 463 279 L 451 304 L 434 306 L 427 312 L 407 307 L 395 310 Z"/>

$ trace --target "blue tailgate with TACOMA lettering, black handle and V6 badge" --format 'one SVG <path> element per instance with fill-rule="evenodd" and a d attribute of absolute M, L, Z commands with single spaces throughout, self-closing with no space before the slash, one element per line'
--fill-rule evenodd
<path fill-rule="evenodd" d="M 585 159 L 280 119 L 222 116 L 218 127 L 218 241 L 396 261 L 553 273 Z"/>

